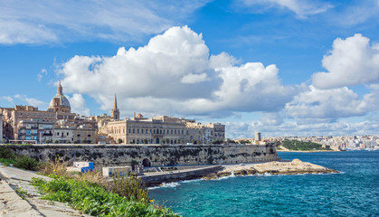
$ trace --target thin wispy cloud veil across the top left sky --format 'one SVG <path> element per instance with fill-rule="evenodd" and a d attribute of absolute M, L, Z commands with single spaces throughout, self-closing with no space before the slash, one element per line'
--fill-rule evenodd
<path fill-rule="evenodd" d="M 185 21 L 198 1 L 2 1 L 0 43 L 140 40 Z"/>

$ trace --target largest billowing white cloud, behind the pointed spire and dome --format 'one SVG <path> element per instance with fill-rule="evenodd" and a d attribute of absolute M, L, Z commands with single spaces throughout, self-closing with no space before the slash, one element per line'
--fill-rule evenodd
<path fill-rule="evenodd" d="M 74 56 L 62 64 L 65 91 L 86 93 L 101 109 L 158 114 L 226 116 L 232 111 L 279 110 L 298 92 L 284 86 L 275 65 L 235 65 L 226 54 L 209 54 L 202 34 L 172 27 L 143 47 L 110 57 Z"/>

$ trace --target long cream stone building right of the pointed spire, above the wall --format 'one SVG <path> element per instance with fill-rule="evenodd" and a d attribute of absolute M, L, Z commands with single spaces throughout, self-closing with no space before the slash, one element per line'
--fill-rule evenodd
<path fill-rule="evenodd" d="M 192 119 L 145 118 L 138 114 L 132 119 L 111 121 L 101 127 L 101 132 L 121 144 L 206 144 L 216 139 L 223 140 L 224 129 L 222 124 L 204 126 Z"/>

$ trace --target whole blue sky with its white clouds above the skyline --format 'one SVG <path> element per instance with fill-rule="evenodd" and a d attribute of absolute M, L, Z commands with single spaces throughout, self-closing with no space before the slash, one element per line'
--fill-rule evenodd
<path fill-rule="evenodd" d="M 379 1 L 0 0 L 0 107 L 223 122 L 227 137 L 377 134 Z"/>

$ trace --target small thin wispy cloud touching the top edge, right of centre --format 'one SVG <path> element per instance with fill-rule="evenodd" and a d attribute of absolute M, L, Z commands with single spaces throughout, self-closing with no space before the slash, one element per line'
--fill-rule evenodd
<path fill-rule="evenodd" d="M 242 3 L 247 6 L 280 6 L 294 12 L 299 18 L 305 18 L 312 14 L 320 14 L 332 7 L 328 3 L 315 0 L 242 0 Z"/>

